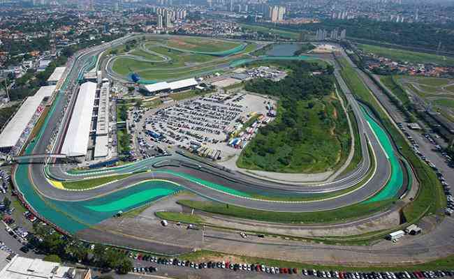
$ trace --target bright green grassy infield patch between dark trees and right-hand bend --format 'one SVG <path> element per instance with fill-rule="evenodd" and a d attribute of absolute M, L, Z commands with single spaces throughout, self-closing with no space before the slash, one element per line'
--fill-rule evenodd
<path fill-rule="evenodd" d="M 279 117 L 284 110 L 278 106 Z M 295 125 L 300 128 L 300 144 L 290 146 L 287 139 L 295 137 L 291 130 L 279 130 L 272 135 L 259 133 L 243 149 L 237 166 L 245 169 L 288 173 L 325 172 L 344 163 L 350 152 L 350 133 L 344 110 L 338 100 L 330 96 L 318 100 L 298 100 L 298 119 Z M 321 117 L 321 115 L 323 117 Z M 256 151 L 256 144 L 274 146 L 275 152 L 262 154 Z M 287 158 L 285 162 L 281 158 Z"/>

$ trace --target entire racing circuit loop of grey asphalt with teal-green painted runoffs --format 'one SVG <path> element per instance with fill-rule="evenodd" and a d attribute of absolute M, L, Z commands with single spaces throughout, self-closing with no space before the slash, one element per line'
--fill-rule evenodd
<path fill-rule="evenodd" d="M 82 79 L 85 72 L 97 66 L 96 61 L 101 53 L 130 39 L 131 37 L 115 40 L 78 54 L 65 82 L 57 91 L 59 93 L 55 96 L 41 130 L 24 150 L 24 156 L 59 153 L 65 127 L 69 121 L 68 107 L 73 104 L 71 100 L 73 87 Z M 229 52 L 208 54 L 224 57 L 242 52 L 245 47 L 246 45 L 242 43 Z M 129 54 L 126 56 L 139 59 Z M 235 68 L 256 59 L 314 59 L 312 56 L 263 56 L 242 57 L 226 62 L 222 57 L 219 58 L 222 63 L 217 63 L 215 70 Z M 167 56 L 161 58 L 163 61 L 170 59 Z M 112 73 L 109 66 L 112 61 L 115 61 L 115 58 L 110 58 L 105 66 L 107 73 L 111 77 L 125 79 Z M 212 70 L 214 69 L 210 69 Z M 31 159 L 29 164 L 15 165 L 13 181 L 24 201 L 38 213 L 38 216 L 68 234 L 76 234 L 82 229 L 101 223 L 118 211 L 136 209 L 180 190 L 189 190 L 196 195 L 224 204 L 279 212 L 328 211 L 353 204 L 399 198 L 409 188 L 411 170 L 403 163 L 386 130 L 374 118 L 372 112 L 353 97 L 340 77 L 338 69 L 335 71 L 335 77 L 357 119 L 358 130 L 361 132 L 360 149 L 363 160 L 356 169 L 332 181 L 304 184 L 265 181 L 194 160 L 182 153 L 88 171 L 75 170 L 71 164 L 54 164 L 54 159 L 47 160 L 47 164 L 40 163 L 38 159 Z M 62 120 L 59 121 L 60 119 Z M 69 190 L 61 184 L 61 181 L 81 181 L 118 174 L 131 175 L 87 190 Z M 330 193 L 339 194 L 325 196 Z M 259 195 L 262 197 L 258 197 Z M 286 201 L 283 199 L 285 197 L 293 197 L 293 200 Z"/>

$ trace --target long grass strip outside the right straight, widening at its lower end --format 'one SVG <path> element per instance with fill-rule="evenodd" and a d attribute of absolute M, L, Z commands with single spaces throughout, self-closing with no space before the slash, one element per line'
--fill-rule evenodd
<path fill-rule="evenodd" d="M 351 91 L 363 103 L 372 110 L 374 116 L 380 120 L 381 125 L 386 129 L 393 142 L 398 146 L 400 153 L 407 159 L 416 173 L 419 181 L 418 194 L 416 198 L 404 206 L 402 213 L 409 223 L 414 223 L 427 214 L 442 214 L 446 206 L 446 198 L 437 175 L 425 164 L 411 149 L 411 146 L 404 139 L 403 135 L 395 128 L 388 115 L 383 111 L 381 105 L 374 98 L 373 94 L 356 73 L 346 59 L 338 59 L 342 66 L 341 75 Z"/>

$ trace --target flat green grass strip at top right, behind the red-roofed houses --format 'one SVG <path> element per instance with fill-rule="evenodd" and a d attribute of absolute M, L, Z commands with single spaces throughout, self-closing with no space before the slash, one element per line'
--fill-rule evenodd
<path fill-rule="evenodd" d="M 409 50 L 397 50 L 388 47 L 377 47 L 375 45 L 358 44 L 358 48 L 363 52 L 372 52 L 379 56 L 384 56 L 395 61 L 410 63 L 437 63 L 441 66 L 450 66 L 454 64 L 454 58 L 423 52 L 411 52 Z"/>

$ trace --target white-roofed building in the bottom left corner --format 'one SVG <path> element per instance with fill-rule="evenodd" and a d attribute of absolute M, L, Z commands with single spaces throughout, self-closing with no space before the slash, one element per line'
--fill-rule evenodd
<path fill-rule="evenodd" d="M 0 279 L 91 279 L 90 269 L 64 266 L 15 255 L 0 271 Z"/>

